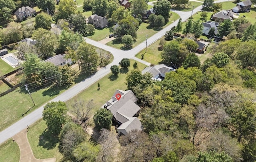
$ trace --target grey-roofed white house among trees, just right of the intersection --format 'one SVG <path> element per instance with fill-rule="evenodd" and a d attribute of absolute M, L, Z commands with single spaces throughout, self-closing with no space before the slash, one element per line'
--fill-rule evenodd
<path fill-rule="evenodd" d="M 155 65 L 155 66 L 150 66 L 150 67 L 144 68 L 144 70 L 142 70 L 142 74 L 145 74 L 146 72 L 148 72 L 148 73 L 152 74 L 153 80 L 162 80 L 165 78 L 165 74 L 167 72 L 171 72 L 171 71 L 175 71 L 175 69 L 168 67 L 164 64 L 160 64 L 160 65 Z"/>

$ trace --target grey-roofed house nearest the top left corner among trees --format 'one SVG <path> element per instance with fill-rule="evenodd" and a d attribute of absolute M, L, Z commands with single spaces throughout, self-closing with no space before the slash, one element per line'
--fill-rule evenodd
<path fill-rule="evenodd" d="M 16 15 L 16 18 L 19 21 L 22 21 L 24 18 L 28 18 L 29 16 L 34 16 L 36 15 L 36 10 L 34 10 L 33 8 L 26 6 L 26 7 L 21 7 L 18 8 L 18 10 L 16 10 L 16 12 L 14 12 L 14 14 Z"/>

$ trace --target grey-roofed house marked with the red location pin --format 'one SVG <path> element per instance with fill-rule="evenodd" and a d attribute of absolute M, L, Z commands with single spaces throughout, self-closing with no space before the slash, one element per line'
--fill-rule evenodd
<path fill-rule="evenodd" d="M 140 112 L 137 100 L 132 90 L 116 90 L 112 98 L 102 106 L 113 114 L 112 121 L 118 125 L 117 131 L 121 135 L 134 129 L 142 130 L 142 124 L 137 118 Z"/>

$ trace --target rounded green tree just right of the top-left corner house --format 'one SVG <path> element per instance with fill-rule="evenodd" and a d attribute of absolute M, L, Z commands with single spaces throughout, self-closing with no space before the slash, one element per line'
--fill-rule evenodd
<path fill-rule="evenodd" d="M 36 15 L 35 29 L 43 28 L 50 30 L 52 28 L 52 17 L 44 12 Z"/>

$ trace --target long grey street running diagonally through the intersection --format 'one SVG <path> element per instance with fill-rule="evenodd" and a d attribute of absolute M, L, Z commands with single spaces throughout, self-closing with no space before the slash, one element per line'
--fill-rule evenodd
<path fill-rule="evenodd" d="M 224 1 L 228 1 L 228 0 L 220 0 L 220 1 L 215 1 L 215 2 L 224 2 Z M 202 6 L 198 6 L 197 8 L 194 8 L 193 13 L 198 12 L 201 8 L 202 8 Z M 174 12 L 176 12 L 177 14 L 180 15 L 180 18 L 182 18 L 182 21 L 188 19 L 192 13 L 191 11 L 190 12 L 174 11 Z M 177 24 L 178 24 L 178 20 L 176 20 L 174 23 L 170 24 L 166 28 L 160 30 L 158 33 L 156 33 L 152 37 L 148 38 L 147 45 L 149 46 L 150 44 L 154 43 L 156 40 L 160 39 L 162 36 L 164 36 L 166 31 L 170 30 L 173 26 L 176 26 Z M 90 85 L 92 85 L 97 80 L 100 80 L 102 77 L 104 77 L 108 73 L 110 73 L 110 66 L 112 66 L 114 64 L 118 64 L 118 62 L 120 62 L 120 60 L 122 60 L 122 58 L 132 58 L 132 59 L 135 59 L 136 61 L 146 64 L 148 66 L 150 65 L 150 63 L 148 63 L 148 62 L 145 62 L 143 60 L 140 60 L 140 59 L 134 57 L 135 54 L 137 54 L 138 52 L 140 52 L 141 50 L 143 50 L 146 47 L 146 36 L 145 36 L 144 42 L 142 42 L 135 48 L 133 48 L 131 50 L 127 50 L 127 51 L 118 50 L 118 49 L 112 48 L 110 46 L 106 46 L 102 43 L 96 42 L 94 40 L 90 40 L 88 38 L 86 38 L 86 42 L 89 44 L 92 44 L 96 47 L 99 47 L 99 48 L 102 48 L 104 50 L 111 52 L 114 56 L 113 62 L 111 64 L 109 64 L 108 66 L 106 66 L 105 68 L 100 69 L 98 72 L 96 72 L 96 74 L 94 74 L 90 78 L 83 80 L 82 82 L 74 85 L 73 87 L 66 90 L 65 92 L 63 92 L 62 94 L 57 96 L 56 98 L 50 100 L 50 102 L 51 101 L 59 101 L 59 100 L 60 101 L 69 100 L 70 98 L 72 98 L 73 96 L 78 94 L 79 92 L 88 88 Z M 30 125 L 30 124 L 36 122 L 38 119 L 42 118 L 43 106 L 44 105 L 42 105 L 37 110 L 34 110 L 30 114 L 24 116 L 24 118 L 22 118 L 21 120 L 19 120 L 18 122 L 14 123 L 14 124 L 12 124 L 12 126 L 6 128 L 2 132 L 0 132 L 0 144 L 2 142 L 4 142 L 5 140 L 14 136 L 21 130 L 25 129 L 27 125 Z"/>

